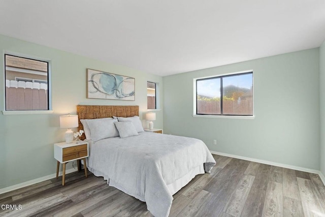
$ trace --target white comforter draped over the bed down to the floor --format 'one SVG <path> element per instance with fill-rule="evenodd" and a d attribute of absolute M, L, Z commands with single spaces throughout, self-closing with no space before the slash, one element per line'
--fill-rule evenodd
<path fill-rule="evenodd" d="M 159 217 L 168 216 L 172 205 L 168 184 L 203 164 L 208 173 L 215 165 L 203 141 L 143 132 L 90 143 L 87 166 L 109 185 L 145 201 L 148 210 Z"/>

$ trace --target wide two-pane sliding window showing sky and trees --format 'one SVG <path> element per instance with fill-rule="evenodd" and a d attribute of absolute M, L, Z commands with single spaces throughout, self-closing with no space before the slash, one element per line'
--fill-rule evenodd
<path fill-rule="evenodd" d="M 253 115 L 253 72 L 196 79 L 196 114 Z"/>

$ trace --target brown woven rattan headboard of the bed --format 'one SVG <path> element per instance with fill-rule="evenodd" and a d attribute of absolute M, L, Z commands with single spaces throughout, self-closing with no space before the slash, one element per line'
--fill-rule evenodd
<path fill-rule="evenodd" d="M 139 106 L 88 106 L 88 105 L 77 105 L 77 114 L 79 122 L 79 130 L 83 130 L 80 119 L 94 119 L 104 117 L 133 117 L 139 116 Z M 80 139 L 86 138 L 83 134 Z"/>

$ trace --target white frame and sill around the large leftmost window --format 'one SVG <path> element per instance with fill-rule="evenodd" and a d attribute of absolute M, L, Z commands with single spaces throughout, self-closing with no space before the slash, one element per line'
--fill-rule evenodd
<path fill-rule="evenodd" d="M 36 61 L 42 61 L 47 63 L 47 103 L 48 107 L 46 110 L 6 110 L 6 55 L 9 56 L 15 56 L 19 58 L 25 58 L 25 59 L 31 59 Z M 10 51 L 4 51 L 3 52 L 3 63 L 4 63 L 4 75 L 3 75 L 3 81 L 4 81 L 4 101 L 3 101 L 3 111 L 2 113 L 4 115 L 20 115 L 20 114 L 52 114 L 52 84 L 51 84 L 51 60 L 42 58 L 42 57 L 36 57 L 21 53 L 15 53 Z"/>

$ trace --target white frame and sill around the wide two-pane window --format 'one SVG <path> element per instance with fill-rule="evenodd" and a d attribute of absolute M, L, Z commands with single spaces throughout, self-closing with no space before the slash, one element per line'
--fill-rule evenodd
<path fill-rule="evenodd" d="M 252 75 L 252 115 L 250 114 L 223 114 L 223 84 L 222 84 L 222 78 L 225 77 L 232 77 L 236 75 L 245 75 L 245 74 L 251 74 Z M 228 74 L 222 74 L 222 75 L 214 75 L 214 76 L 208 76 L 208 77 L 202 77 L 202 78 L 194 78 L 193 79 L 193 117 L 217 117 L 217 118 L 238 118 L 238 119 L 254 119 L 255 113 L 254 113 L 254 73 L 253 70 L 246 70 L 241 72 L 235 72 L 235 73 L 228 73 Z M 220 114 L 201 114 L 198 113 L 198 81 L 202 80 L 208 80 L 208 79 L 215 79 L 220 78 Z"/>

